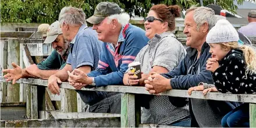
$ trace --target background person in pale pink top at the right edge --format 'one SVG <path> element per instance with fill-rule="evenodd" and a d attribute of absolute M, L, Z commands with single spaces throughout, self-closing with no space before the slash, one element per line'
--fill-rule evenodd
<path fill-rule="evenodd" d="M 248 24 L 246 26 L 240 27 L 238 30 L 246 36 L 256 36 L 256 10 L 251 10 L 248 13 Z"/>

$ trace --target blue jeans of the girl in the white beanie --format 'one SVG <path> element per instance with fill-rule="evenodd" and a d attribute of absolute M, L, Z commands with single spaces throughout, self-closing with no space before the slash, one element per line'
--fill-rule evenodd
<path fill-rule="evenodd" d="M 221 120 L 222 127 L 250 127 L 249 104 L 245 103 L 227 113 Z"/>

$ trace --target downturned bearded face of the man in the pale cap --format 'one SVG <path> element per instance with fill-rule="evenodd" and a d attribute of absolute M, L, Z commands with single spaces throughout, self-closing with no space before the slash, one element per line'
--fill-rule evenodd
<path fill-rule="evenodd" d="M 52 42 L 52 48 L 54 48 L 58 54 L 63 55 L 69 48 L 69 42 L 64 40 L 63 34 L 58 35 L 54 42 Z"/>

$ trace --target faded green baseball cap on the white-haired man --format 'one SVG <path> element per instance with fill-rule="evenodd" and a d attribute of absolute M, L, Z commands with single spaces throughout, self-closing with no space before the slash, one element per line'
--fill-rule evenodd
<path fill-rule="evenodd" d="M 98 24 L 105 17 L 120 14 L 121 12 L 121 8 L 114 2 L 100 2 L 95 8 L 93 16 L 89 17 L 86 21 L 91 24 Z"/>

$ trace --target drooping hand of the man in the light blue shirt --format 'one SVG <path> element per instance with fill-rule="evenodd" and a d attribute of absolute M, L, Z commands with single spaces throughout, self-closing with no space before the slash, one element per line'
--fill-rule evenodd
<path fill-rule="evenodd" d="M 62 81 L 56 77 L 55 75 L 52 75 L 48 79 L 48 88 L 53 94 L 58 94 L 61 93 L 61 90 L 59 89 L 59 85 L 61 84 Z"/>

